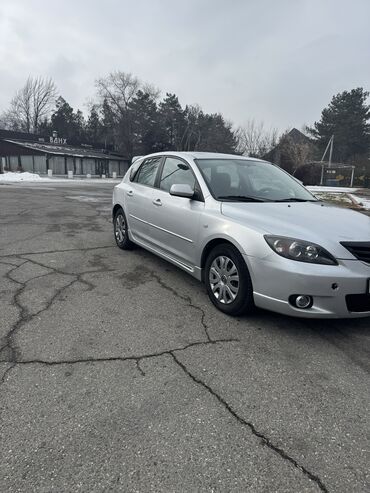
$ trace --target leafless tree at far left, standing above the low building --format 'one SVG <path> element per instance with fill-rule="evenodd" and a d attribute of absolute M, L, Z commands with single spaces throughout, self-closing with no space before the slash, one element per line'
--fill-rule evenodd
<path fill-rule="evenodd" d="M 10 108 L 2 115 L 6 128 L 37 133 L 42 120 L 50 114 L 57 97 L 52 79 L 28 77 L 10 102 Z"/>

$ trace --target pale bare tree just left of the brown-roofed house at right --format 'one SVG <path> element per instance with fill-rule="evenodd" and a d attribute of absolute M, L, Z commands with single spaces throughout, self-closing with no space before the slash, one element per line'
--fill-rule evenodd
<path fill-rule="evenodd" d="M 246 156 L 262 157 L 267 154 L 278 141 L 276 128 L 266 130 L 264 123 L 257 123 L 254 119 L 248 120 L 244 127 L 239 127 L 235 136 L 237 152 Z"/>

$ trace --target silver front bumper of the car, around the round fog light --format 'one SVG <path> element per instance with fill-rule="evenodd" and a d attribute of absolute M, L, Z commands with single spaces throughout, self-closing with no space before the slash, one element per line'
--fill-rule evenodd
<path fill-rule="evenodd" d="M 277 254 L 261 259 L 244 255 L 256 306 L 274 312 L 305 318 L 358 318 L 370 311 L 351 312 L 346 295 L 364 294 L 368 289 L 370 265 L 359 260 L 338 260 L 339 265 L 296 262 Z M 337 288 L 333 289 L 336 284 Z M 313 297 L 306 310 L 289 303 L 294 294 Z"/>

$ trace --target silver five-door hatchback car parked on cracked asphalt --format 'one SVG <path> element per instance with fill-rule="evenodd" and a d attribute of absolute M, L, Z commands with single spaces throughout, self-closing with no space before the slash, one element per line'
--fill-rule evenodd
<path fill-rule="evenodd" d="M 204 281 L 229 315 L 254 306 L 370 316 L 370 218 L 318 201 L 266 161 L 205 152 L 137 159 L 113 192 L 117 245 Z"/>

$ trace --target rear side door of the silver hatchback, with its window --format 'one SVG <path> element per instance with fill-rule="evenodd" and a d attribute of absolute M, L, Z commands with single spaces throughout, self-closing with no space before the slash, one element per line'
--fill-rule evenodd
<path fill-rule="evenodd" d="M 150 242 L 150 227 L 155 206 L 153 191 L 162 158 L 145 159 L 125 186 L 125 211 L 134 239 Z"/>

